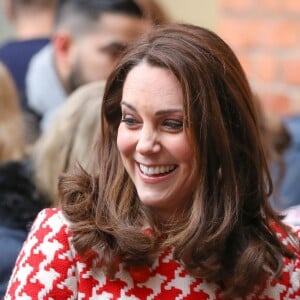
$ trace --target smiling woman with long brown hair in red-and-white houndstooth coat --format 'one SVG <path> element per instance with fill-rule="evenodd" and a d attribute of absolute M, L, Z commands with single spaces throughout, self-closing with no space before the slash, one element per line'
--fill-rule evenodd
<path fill-rule="evenodd" d="M 106 84 L 95 171 L 61 177 L 7 299 L 298 299 L 300 233 L 268 203 L 258 124 L 216 34 L 174 24 L 136 42 Z"/>

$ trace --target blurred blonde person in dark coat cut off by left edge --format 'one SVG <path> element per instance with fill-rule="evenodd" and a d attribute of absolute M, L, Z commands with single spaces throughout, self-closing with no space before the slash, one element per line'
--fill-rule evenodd
<path fill-rule="evenodd" d="M 23 129 L 16 87 L 0 63 L 0 299 L 30 224 L 48 206 L 32 180 Z"/>

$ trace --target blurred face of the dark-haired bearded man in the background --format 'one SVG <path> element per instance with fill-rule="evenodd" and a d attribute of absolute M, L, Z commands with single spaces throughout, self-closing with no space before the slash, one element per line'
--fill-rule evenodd
<path fill-rule="evenodd" d="M 149 21 L 124 14 L 105 13 L 96 30 L 75 40 L 70 52 L 67 86 L 73 91 L 88 82 L 105 80 L 125 47 L 149 32 Z"/>

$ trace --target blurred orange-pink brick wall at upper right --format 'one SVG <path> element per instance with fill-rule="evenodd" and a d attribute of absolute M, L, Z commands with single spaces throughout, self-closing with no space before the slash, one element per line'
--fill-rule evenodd
<path fill-rule="evenodd" d="M 219 35 L 265 109 L 300 113 L 300 0 L 218 0 Z"/>

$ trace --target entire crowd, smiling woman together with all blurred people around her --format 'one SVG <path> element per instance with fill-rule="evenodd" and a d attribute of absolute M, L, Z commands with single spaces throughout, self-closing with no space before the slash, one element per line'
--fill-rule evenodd
<path fill-rule="evenodd" d="M 0 298 L 300 299 L 296 133 L 226 42 L 155 0 L 5 1 Z"/>

